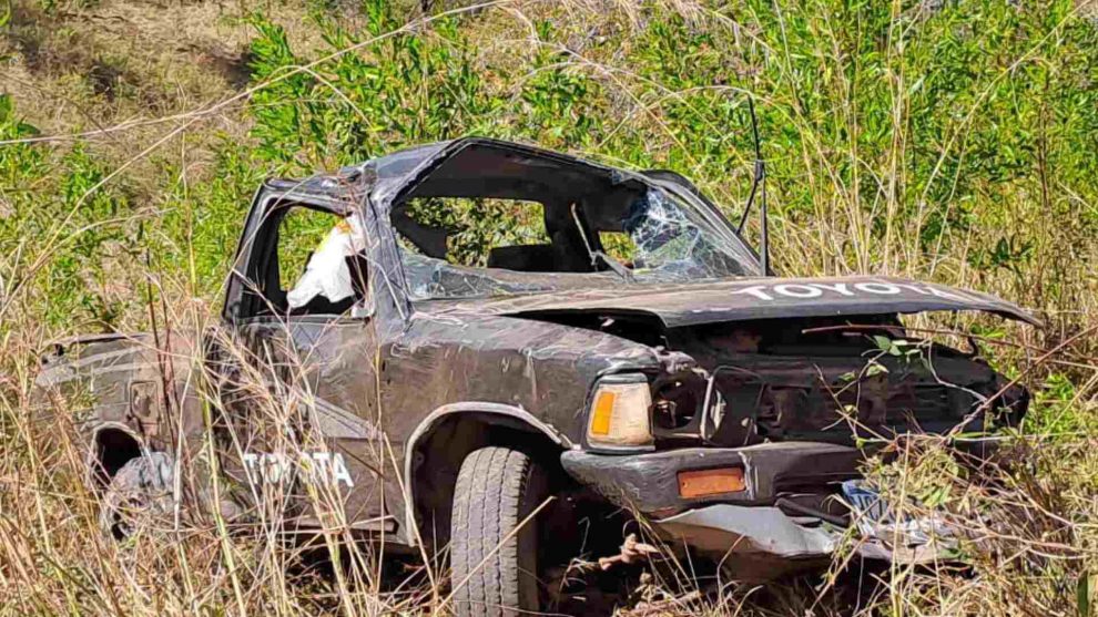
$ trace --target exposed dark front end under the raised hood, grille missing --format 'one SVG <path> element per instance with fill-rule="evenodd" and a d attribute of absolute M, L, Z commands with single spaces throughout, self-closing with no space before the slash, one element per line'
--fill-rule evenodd
<path fill-rule="evenodd" d="M 677 351 L 661 353 L 675 354 L 665 366 L 680 370 L 653 383 L 657 440 L 693 438 L 724 446 L 850 442 L 958 425 L 983 431 L 1025 412 L 1020 388 L 987 403 L 1004 381 L 968 353 L 906 338 L 895 321 L 820 328 L 831 321 L 669 331 L 669 347 Z M 974 413 L 984 409 L 990 413 Z"/>

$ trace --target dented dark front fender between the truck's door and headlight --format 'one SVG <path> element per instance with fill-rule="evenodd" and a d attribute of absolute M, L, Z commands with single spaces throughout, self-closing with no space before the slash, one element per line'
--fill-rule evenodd
<path fill-rule="evenodd" d="M 619 337 L 490 316 L 460 322 L 416 316 L 384 353 L 390 360 L 383 379 L 419 384 L 414 393 L 393 389 L 383 398 L 385 409 L 401 419 L 393 425 L 396 434 L 421 421 L 419 410 L 490 401 L 527 410 L 578 441 L 588 392 L 599 377 L 660 367 L 652 349 Z"/>

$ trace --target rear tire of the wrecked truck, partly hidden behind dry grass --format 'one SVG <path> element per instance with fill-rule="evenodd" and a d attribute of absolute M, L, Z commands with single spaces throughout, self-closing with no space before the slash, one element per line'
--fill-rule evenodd
<path fill-rule="evenodd" d="M 103 493 L 100 527 L 123 541 L 149 525 L 167 524 L 175 510 L 175 461 L 164 452 L 150 452 L 128 461 Z"/>

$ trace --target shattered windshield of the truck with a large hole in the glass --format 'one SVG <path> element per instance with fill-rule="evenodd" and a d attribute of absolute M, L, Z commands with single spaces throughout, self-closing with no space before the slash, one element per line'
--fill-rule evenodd
<path fill-rule="evenodd" d="M 669 187 L 670 188 L 670 187 Z M 433 197 L 394 214 L 414 300 L 487 298 L 758 274 L 728 224 L 689 194 L 618 204 Z"/>

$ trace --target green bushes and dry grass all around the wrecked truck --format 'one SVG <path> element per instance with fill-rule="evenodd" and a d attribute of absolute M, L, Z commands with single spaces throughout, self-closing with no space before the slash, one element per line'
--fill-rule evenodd
<path fill-rule="evenodd" d="M 882 465 L 996 536 L 973 576 L 894 573 L 874 610 L 1067 615 L 1096 593 L 1095 0 L 435 4 L 414 22 L 418 6 L 384 0 L 0 0 L 0 594 L 43 614 L 360 609 L 258 577 L 242 599 L 224 577 L 180 574 L 215 570 L 206 553 L 112 578 L 108 548 L 82 551 L 94 511 L 79 460 L 29 417 L 34 349 L 145 328 L 150 298 L 215 307 L 264 176 L 423 142 L 479 134 L 669 168 L 736 219 L 749 95 L 781 272 L 936 280 L 1046 321 L 923 323 L 975 332 L 1035 389 L 1016 435 L 1026 461 L 988 472 L 1002 492 L 933 445 Z M 517 216 L 497 209 L 466 223 Z M 154 609 L 142 598 L 160 577 L 171 598 Z M 803 614 L 815 594 L 760 610 Z M 678 610 L 733 614 L 750 595 Z"/>

